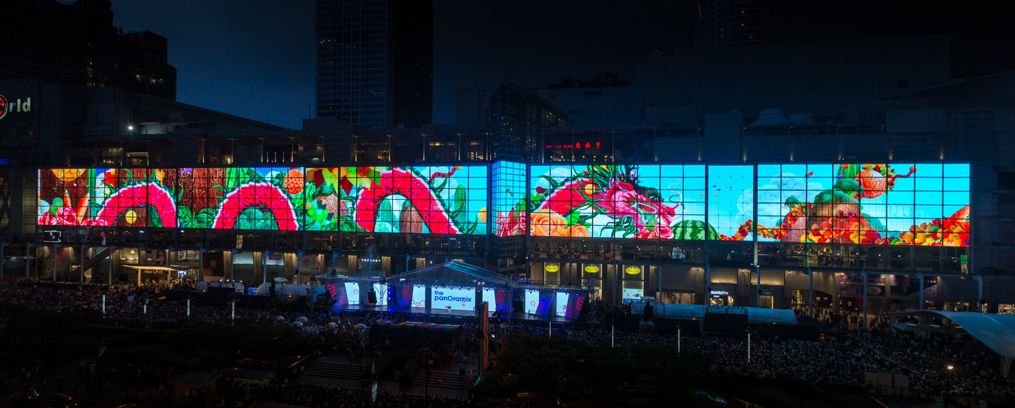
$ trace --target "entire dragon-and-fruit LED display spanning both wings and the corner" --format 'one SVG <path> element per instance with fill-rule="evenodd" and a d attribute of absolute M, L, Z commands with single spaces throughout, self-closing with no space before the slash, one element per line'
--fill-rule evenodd
<path fill-rule="evenodd" d="M 498 236 L 969 246 L 965 163 L 490 169 L 41 169 L 38 223 L 485 234 L 492 218 Z"/>

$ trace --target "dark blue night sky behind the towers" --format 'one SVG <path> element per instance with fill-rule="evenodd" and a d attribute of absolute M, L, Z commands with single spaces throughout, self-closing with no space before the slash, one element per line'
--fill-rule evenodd
<path fill-rule="evenodd" d="M 889 3 L 889 4 L 882 4 Z M 776 0 L 776 41 L 953 36 L 953 74 L 1015 69 L 1003 2 L 961 8 L 859 0 L 834 9 Z M 822 3 L 823 4 L 823 3 Z M 299 128 L 313 106 L 314 1 L 113 0 L 114 23 L 168 39 L 178 100 Z M 694 2 L 435 0 L 433 121 L 454 123 L 461 86 L 523 86 L 610 71 L 631 79 L 653 50 L 691 45 Z"/>

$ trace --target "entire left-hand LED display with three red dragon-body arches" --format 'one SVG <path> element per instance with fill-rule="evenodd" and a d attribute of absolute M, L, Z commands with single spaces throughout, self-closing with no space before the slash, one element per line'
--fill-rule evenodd
<path fill-rule="evenodd" d="M 39 171 L 41 225 L 486 233 L 486 167 Z"/>

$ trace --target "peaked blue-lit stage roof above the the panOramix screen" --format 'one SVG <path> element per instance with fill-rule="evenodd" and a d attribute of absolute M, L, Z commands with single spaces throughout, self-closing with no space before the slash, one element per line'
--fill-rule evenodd
<path fill-rule="evenodd" d="M 509 285 L 511 279 L 465 262 L 451 261 L 400 273 L 385 279 L 385 282 L 389 285 L 504 287 Z"/>

